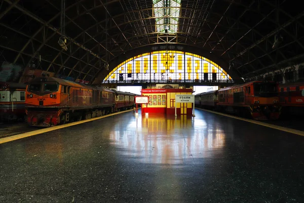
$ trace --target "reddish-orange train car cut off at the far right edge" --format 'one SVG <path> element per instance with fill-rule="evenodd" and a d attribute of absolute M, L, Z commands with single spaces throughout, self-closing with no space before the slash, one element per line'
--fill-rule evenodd
<path fill-rule="evenodd" d="M 282 113 L 291 115 L 304 114 L 304 81 L 279 85 Z"/>

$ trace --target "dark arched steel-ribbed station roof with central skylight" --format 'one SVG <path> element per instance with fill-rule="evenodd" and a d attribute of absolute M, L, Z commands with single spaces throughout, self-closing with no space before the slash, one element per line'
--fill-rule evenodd
<path fill-rule="evenodd" d="M 64 30 L 60 14 L 61 0 L 3 0 L 0 60 L 93 82 L 105 62 L 113 69 L 125 55 L 160 43 L 212 54 L 203 56 L 222 62 L 233 79 L 304 56 L 300 1 L 66 0 Z M 63 32 L 67 51 L 58 45 Z M 272 48 L 275 36 L 283 41 Z"/>

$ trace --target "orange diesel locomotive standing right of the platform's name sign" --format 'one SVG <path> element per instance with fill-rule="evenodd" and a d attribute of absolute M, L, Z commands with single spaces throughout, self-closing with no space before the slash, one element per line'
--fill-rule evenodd
<path fill-rule="evenodd" d="M 278 84 L 253 81 L 220 89 L 217 107 L 243 116 L 250 113 L 258 120 L 278 119 L 281 112 Z"/>

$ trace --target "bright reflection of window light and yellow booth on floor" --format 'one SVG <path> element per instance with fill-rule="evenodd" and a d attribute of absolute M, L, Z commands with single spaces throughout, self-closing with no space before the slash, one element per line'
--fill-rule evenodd
<path fill-rule="evenodd" d="M 220 153 L 224 146 L 223 129 L 201 117 L 149 114 L 121 127 L 118 123 L 110 132 L 112 144 L 126 157 L 145 163 L 193 163 L 193 158 L 212 156 L 209 149 Z"/>

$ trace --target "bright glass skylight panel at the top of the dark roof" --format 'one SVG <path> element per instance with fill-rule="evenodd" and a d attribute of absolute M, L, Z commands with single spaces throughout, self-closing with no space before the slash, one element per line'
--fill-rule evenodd
<path fill-rule="evenodd" d="M 177 32 L 181 0 L 153 0 L 156 31 Z"/>

